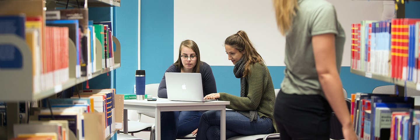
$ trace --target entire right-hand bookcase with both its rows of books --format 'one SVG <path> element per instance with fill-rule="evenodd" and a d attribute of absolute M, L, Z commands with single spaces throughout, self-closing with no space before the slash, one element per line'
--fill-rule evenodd
<path fill-rule="evenodd" d="M 420 18 L 420 16 L 418 15 L 418 11 L 415 11 L 415 9 L 418 9 L 420 7 L 420 3 L 419 3 L 418 0 L 410 0 L 410 1 L 405 1 L 405 2 L 402 1 L 402 0 L 395 0 L 395 4 L 396 4 L 396 18 Z M 415 9 L 413 9 L 413 7 L 415 7 Z M 395 21 L 395 22 L 392 22 L 392 21 Z M 416 67 L 417 66 L 417 52 L 412 53 L 412 54 L 411 53 L 408 54 L 408 53 L 404 53 L 400 50 L 397 51 L 397 48 L 395 47 L 395 46 L 406 47 L 407 44 L 410 44 L 409 46 L 407 46 L 407 49 L 404 49 L 404 50 L 413 51 L 414 50 L 413 48 L 417 48 L 418 45 L 414 44 L 411 41 L 415 40 L 415 41 L 418 42 L 418 38 L 416 38 L 416 37 L 414 37 L 414 38 L 404 38 L 403 35 L 404 35 L 404 33 L 407 33 L 407 31 L 401 29 L 401 27 L 398 28 L 398 25 L 406 26 L 406 24 L 401 24 L 401 23 L 396 22 L 396 21 L 400 21 L 400 19 L 397 19 L 397 20 L 393 19 L 392 21 L 391 22 L 384 22 L 384 21 L 379 22 L 379 23 L 382 23 L 382 26 L 379 25 L 379 27 L 378 27 L 378 24 L 376 24 L 376 29 L 375 30 L 373 30 L 373 24 L 372 24 L 372 32 L 370 31 L 370 28 L 371 28 L 370 26 L 366 27 L 366 28 L 361 26 L 360 30 L 364 30 L 364 31 L 358 31 L 356 33 L 356 36 L 360 35 L 362 37 L 352 38 L 352 39 L 357 39 L 357 40 L 360 39 L 360 43 L 362 44 L 362 42 L 363 42 L 363 43 L 365 43 L 365 45 L 363 45 L 363 44 L 360 45 L 360 44 L 357 44 L 358 42 L 355 42 L 356 45 L 352 45 L 352 49 L 353 49 L 353 46 L 360 47 L 360 51 L 356 49 L 355 52 L 360 53 L 360 54 L 362 54 L 362 53 L 365 54 L 364 57 L 367 57 L 366 55 L 369 54 L 370 59 L 369 58 L 364 58 L 365 59 L 364 63 L 357 63 L 357 66 L 359 66 L 359 64 L 360 64 L 360 66 L 365 66 L 364 68 L 357 68 L 357 67 L 355 68 L 352 65 L 352 69 L 350 69 L 350 72 L 353 73 L 353 74 L 357 74 L 357 75 L 360 75 L 360 76 L 363 76 L 363 77 L 370 78 L 370 79 L 376 79 L 376 80 L 380 80 L 380 81 L 384 81 L 384 82 L 393 83 L 394 85 L 396 85 L 395 86 L 396 89 L 393 92 L 394 92 L 394 94 L 398 93 L 398 96 L 400 96 L 398 98 L 400 98 L 400 99 L 402 97 L 412 97 L 412 98 L 414 98 L 414 100 L 410 99 L 409 103 L 410 103 L 411 107 L 406 107 L 405 109 L 407 109 L 407 110 L 405 110 L 405 112 L 409 112 L 408 108 L 413 108 L 413 107 L 414 107 L 414 109 L 418 110 L 420 108 L 420 98 L 419 98 L 420 97 L 420 92 L 419 92 L 420 91 L 420 82 L 419 82 L 419 80 L 416 79 L 416 77 L 417 77 L 416 72 L 417 71 L 413 70 L 413 69 L 417 68 Z M 405 22 L 407 22 L 408 24 L 412 24 L 412 23 L 409 23 L 408 21 L 405 21 Z M 361 25 L 363 25 L 363 24 L 364 23 L 362 21 Z M 392 25 L 391 25 L 389 28 L 384 29 L 383 27 L 388 27 L 388 26 L 386 26 L 386 24 L 392 24 L 392 25 L 394 25 L 394 27 L 392 27 Z M 366 24 L 364 24 L 364 26 L 366 26 Z M 352 27 L 354 27 L 354 26 L 352 26 Z M 405 27 L 405 28 L 407 28 L 407 27 Z M 417 28 L 417 27 L 415 27 L 415 28 Z M 354 29 L 354 28 L 352 28 L 352 29 Z M 357 27 L 356 27 L 356 29 L 357 29 Z M 387 31 L 388 29 L 391 32 L 388 32 Z M 407 30 L 408 29 L 409 29 L 409 31 L 410 30 L 412 31 L 412 29 L 414 29 L 414 28 L 413 27 L 410 28 L 410 26 L 408 26 Z M 381 36 L 378 37 L 378 34 L 376 34 L 376 33 L 384 33 L 384 31 L 386 32 L 386 34 L 390 34 L 389 38 L 388 38 L 388 36 L 386 36 L 386 38 L 383 39 L 383 38 L 380 38 Z M 396 33 L 396 32 L 399 32 L 399 33 Z M 358 33 L 362 33 L 362 34 L 358 34 Z M 375 35 L 376 35 L 376 39 L 373 39 L 373 41 L 376 41 L 376 42 L 373 43 L 375 45 L 372 45 L 375 48 L 373 48 L 372 50 L 371 50 L 371 48 L 369 48 L 369 49 L 366 48 L 367 46 L 371 47 L 371 44 L 372 44 L 371 39 L 374 38 L 374 37 L 370 38 L 370 33 L 375 33 Z M 417 31 L 411 32 L 411 33 L 412 33 L 412 34 L 410 34 L 411 37 L 418 35 Z M 399 37 L 398 36 L 395 37 L 393 35 L 399 35 Z M 352 37 L 354 37 L 354 36 L 352 36 Z M 371 44 L 367 44 L 367 42 L 366 42 L 367 40 L 365 40 L 367 38 L 368 38 L 368 40 Z M 381 39 L 381 40 L 378 41 L 378 38 Z M 388 39 L 390 39 L 390 40 L 388 40 Z M 399 39 L 399 40 L 396 40 L 396 39 Z M 362 41 L 362 40 L 365 40 L 365 41 Z M 402 43 L 402 41 L 400 41 L 400 40 L 407 40 L 407 44 L 400 44 L 400 43 Z M 387 42 L 387 41 L 389 41 L 390 44 L 387 44 L 387 43 L 384 43 L 384 44 L 389 45 L 389 46 L 380 44 L 380 45 L 383 45 L 383 46 L 378 47 L 378 44 L 379 44 L 378 42 Z M 392 44 L 392 43 L 394 43 L 394 44 Z M 412 48 L 409 48 L 410 46 Z M 378 48 L 381 48 L 381 49 L 378 49 Z M 383 49 L 383 48 L 389 48 L 389 50 L 386 50 L 386 49 Z M 391 48 L 395 49 L 395 50 L 392 50 Z M 363 49 L 365 49 L 365 50 L 363 50 Z M 378 51 L 379 53 L 376 52 L 377 50 L 375 50 L 375 49 L 380 50 L 380 51 Z M 383 50 L 386 50 L 386 51 L 383 51 Z M 382 55 L 380 54 L 381 51 L 382 51 Z M 375 53 L 372 53 L 372 52 L 375 52 Z M 386 53 L 384 53 L 384 52 L 386 52 Z M 400 55 L 397 56 L 398 53 L 400 53 Z M 411 62 L 408 62 L 407 66 L 405 66 L 407 62 L 401 61 L 401 60 L 404 60 L 404 58 L 399 58 L 399 60 L 396 59 L 396 58 L 392 58 L 392 57 L 401 57 L 402 53 L 408 55 L 408 56 L 404 56 L 404 57 L 406 57 L 406 59 L 411 59 Z M 380 57 L 377 57 L 375 55 L 379 55 Z M 388 55 L 388 56 L 386 56 L 386 55 Z M 409 58 L 410 55 L 411 55 L 411 57 L 415 56 L 415 59 Z M 372 56 L 374 56 L 374 57 L 372 57 Z M 383 56 L 386 56 L 386 57 L 383 57 Z M 360 56 L 356 56 L 356 58 L 357 57 L 360 57 Z M 353 58 L 354 57 L 352 56 L 352 59 Z M 383 59 L 383 60 L 379 60 L 378 58 Z M 363 61 L 362 58 L 360 58 L 360 60 Z M 412 64 L 413 60 L 416 63 L 415 65 Z M 353 63 L 354 63 L 354 60 L 353 60 Z M 411 64 L 411 66 L 409 66 L 410 64 Z M 372 66 L 372 67 L 370 67 L 370 66 Z M 374 66 L 374 68 L 373 68 L 373 66 Z M 407 69 L 401 69 L 402 67 L 407 67 Z M 411 70 L 410 70 L 410 67 L 411 67 Z M 364 70 L 358 70 L 358 69 L 364 69 L 366 71 L 376 71 L 378 73 L 387 73 L 387 74 L 384 74 L 384 75 L 373 74 L 371 72 L 366 72 Z M 380 69 L 380 70 L 378 70 L 378 69 Z M 385 71 L 383 71 L 383 70 L 385 70 Z M 405 79 L 407 79 L 407 80 L 405 80 Z M 416 80 L 417 80 L 417 82 L 413 82 L 413 81 L 416 81 Z M 355 96 L 356 96 L 356 98 L 358 98 L 357 94 Z M 362 103 L 354 103 L 354 106 L 356 106 L 356 108 L 354 110 L 352 110 L 354 115 L 358 115 L 357 117 L 354 116 L 354 118 L 352 118 L 354 120 L 353 124 L 354 124 L 356 134 L 359 137 L 362 137 L 362 139 L 366 138 L 366 137 L 370 137 L 369 139 L 377 139 L 378 137 L 381 138 L 381 139 L 388 139 L 388 137 L 389 137 L 388 132 L 390 134 L 396 134 L 396 132 L 394 132 L 394 130 L 393 130 L 393 128 L 395 128 L 393 126 L 394 124 L 389 123 L 390 120 L 395 121 L 394 118 L 391 119 L 391 112 L 395 113 L 395 112 L 402 111 L 402 110 L 398 110 L 398 109 L 396 109 L 396 107 L 391 107 L 391 106 L 384 107 L 384 106 L 381 106 L 380 103 L 383 103 L 383 104 L 385 104 L 385 103 L 397 104 L 397 103 L 402 103 L 402 102 L 399 102 L 397 100 L 382 102 L 380 100 L 376 100 L 376 99 L 378 99 L 379 96 L 372 97 L 372 98 L 367 97 L 367 96 L 370 96 L 370 95 L 366 95 L 365 97 L 361 97 L 361 96 L 362 95 L 359 96 L 359 99 L 362 100 L 363 98 L 365 98 L 363 100 L 365 100 L 366 102 L 363 101 L 363 103 L 366 103 L 366 104 L 362 105 Z M 374 98 L 376 98 L 376 99 L 374 100 Z M 405 99 L 407 99 L 407 98 L 405 98 Z M 358 100 L 358 99 L 355 99 L 355 100 Z M 354 101 L 354 100 L 352 100 L 352 101 Z M 358 102 L 358 101 L 355 101 L 355 102 Z M 391 103 L 391 102 L 393 102 L 393 103 Z M 411 105 L 412 102 L 414 102 L 413 105 Z M 408 101 L 407 101 L 407 103 L 408 103 Z M 359 106 L 362 105 L 362 107 L 357 108 L 357 104 L 359 104 Z M 352 106 L 353 106 L 353 104 L 352 104 Z M 363 108 L 363 106 L 368 107 L 368 108 Z M 364 111 L 365 109 L 367 111 Z M 401 108 L 399 108 L 399 109 L 401 109 Z M 388 110 L 389 110 L 389 112 L 387 112 Z M 357 111 L 357 112 L 354 112 L 354 111 Z M 387 114 L 387 113 L 389 113 L 389 114 Z M 405 117 L 406 117 L 406 119 L 407 118 L 414 119 L 413 116 L 415 116 L 415 115 L 411 114 L 411 115 L 407 115 Z M 383 119 L 383 118 L 389 118 L 389 119 Z M 362 119 L 364 119 L 364 120 L 362 120 Z M 414 122 L 415 122 L 414 120 L 413 120 L 413 123 L 408 122 L 407 127 L 414 128 L 414 125 L 417 125 Z M 398 122 L 396 122 L 395 125 L 397 125 L 397 124 L 398 124 Z M 384 126 L 384 125 L 388 125 L 388 126 Z M 391 130 L 386 130 L 386 129 L 389 129 L 389 127 L 391 127 Z M 368 129 L 366 130 L 366 128 L 368 128 Z M 378 129 L 378 128 L 380 128 L 380 129 Z M 380 132 L 379 132 L 379 130 L 380 130 Z M 416 131 L 410 130 L 410 129 L 408 129 L 408 130 L 407 129 L 404 129 L 404 130 L 398 129 L 398 131 L 401 131 L 401 132 L 404 131 L 404 134 L 407 137 L 411 137 L 411 136 L 413 136 L 413 133 L 416 133 Z M 401 134 L 399 134 L 399 135 L 401 135 Z M 404 135 L 401 135 L 401 136 L 398 136 L 398 137 L 404 137 Z M 391 139 L 393 140 L 394 136 Z M 413 138 L 411 137 L 411 139 L 413 139 Z"/>

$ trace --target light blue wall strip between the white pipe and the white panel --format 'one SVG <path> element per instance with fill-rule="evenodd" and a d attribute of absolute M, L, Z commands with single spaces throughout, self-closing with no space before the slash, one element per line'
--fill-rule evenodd
<path fill-rule="evenodd" d="M 140 10 L 140 68 L 146 84 L 159 83 L 173 63 L 173 0 L 141 0 Z"/>

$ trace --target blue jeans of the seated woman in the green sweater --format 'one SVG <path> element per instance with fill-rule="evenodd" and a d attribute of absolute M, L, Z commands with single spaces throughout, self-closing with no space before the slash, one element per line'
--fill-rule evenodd
<path fill-rule="evenodd" d="M 226 111 L 226 139 L 239 135 L 273 132 L 273 122 L 270 118 L 258 116 L 256 120 L 250 122 L 247 116 L 234 110 Z M 212 110 L 202 114 L 196 140 L 220 140 L 220 111 Z"/>

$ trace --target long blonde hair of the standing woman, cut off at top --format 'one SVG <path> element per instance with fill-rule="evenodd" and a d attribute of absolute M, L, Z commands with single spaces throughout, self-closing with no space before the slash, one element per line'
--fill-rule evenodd
<path fill-rule="evenodd" d="M 296 10 L 299 9 L 297 0 L 274 0 L 277 26 L 281 34 L 285 35 L 292 26 Z"/>

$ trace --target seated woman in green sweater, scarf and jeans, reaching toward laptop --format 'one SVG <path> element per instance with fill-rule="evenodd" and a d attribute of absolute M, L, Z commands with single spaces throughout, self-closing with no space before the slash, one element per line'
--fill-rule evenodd
<path fill-rule="evenodd" d="M 226 139 L 238 135 L 276 132 L 273 123 L 274 87 L 270 71 L 252 46 L 247 33 L 238 31 L 225 40 L 228 59 L 234 63 L 234 75 L 241 79 L 241 96 L 225 92 L 206 95 L 205 99 L 230 101 L 226 108 Z M 220 140 L 220 111 L 202 114 L 196 140 Z"/>

